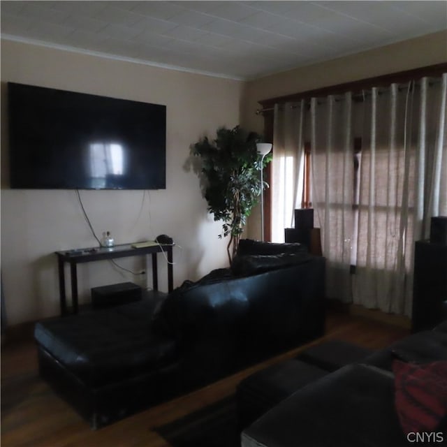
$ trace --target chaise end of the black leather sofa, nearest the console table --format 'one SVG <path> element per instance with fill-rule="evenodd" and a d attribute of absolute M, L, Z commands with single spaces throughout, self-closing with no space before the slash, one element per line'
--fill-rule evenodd
<path fill-rule="evenodd" d="M 175 339 L 149 330 L 156 300 L 36 323 L 39 372 L 92 428 L 176 392 Z"/>

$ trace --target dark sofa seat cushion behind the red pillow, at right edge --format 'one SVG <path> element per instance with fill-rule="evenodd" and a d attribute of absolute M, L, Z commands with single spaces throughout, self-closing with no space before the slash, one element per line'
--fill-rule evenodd
<path fill-rule="evenodd" d="M 391 371 L 395 359 L 413 363 L 447 360 L 447 332 L 418 332 L 372 354 L 364 362 Z"/>

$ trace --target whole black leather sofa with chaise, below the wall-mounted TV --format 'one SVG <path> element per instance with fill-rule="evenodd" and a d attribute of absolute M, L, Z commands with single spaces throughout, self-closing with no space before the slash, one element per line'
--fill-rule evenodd
<path fill-rule="evenodd" d="M 101 427 L 321 337 L 324 274 L 300 244 L 242 240 L 167 297 L 37 323 L 41 376 Z"/>

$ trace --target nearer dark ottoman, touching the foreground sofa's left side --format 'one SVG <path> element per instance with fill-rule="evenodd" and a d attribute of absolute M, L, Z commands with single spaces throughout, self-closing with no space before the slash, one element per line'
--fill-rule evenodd
<path fill-rule="evenodd" d="M 295 391 L 328 374 L 327 371 L 300 362 L 285 362 L 262 369 L 237 386 L 237 410 L 241 430 Z"/>

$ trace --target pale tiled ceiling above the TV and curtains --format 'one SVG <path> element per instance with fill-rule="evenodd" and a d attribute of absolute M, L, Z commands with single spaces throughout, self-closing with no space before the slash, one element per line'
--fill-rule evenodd
<path fill-rule="evenodd" d="M 254 79 L 447 29 L 447 1 L 6 1 L 1 37 Z"/>

